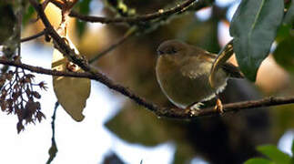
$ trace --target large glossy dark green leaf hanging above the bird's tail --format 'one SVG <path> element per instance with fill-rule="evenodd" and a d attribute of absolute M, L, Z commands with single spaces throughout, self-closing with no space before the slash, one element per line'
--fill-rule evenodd
<path fill-rule="evenodd" d="M 283 18 L 281 0 L 243 0 L 233 16 L 230 35 L 241 71 L 255 81 L 261 62 L 268 56 Z"/>

